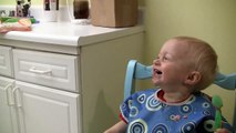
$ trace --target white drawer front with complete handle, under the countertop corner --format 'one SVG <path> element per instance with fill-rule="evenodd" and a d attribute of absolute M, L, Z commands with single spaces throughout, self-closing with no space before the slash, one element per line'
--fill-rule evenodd
<path fill-rule="evenodd" d="M 79 58 L 65 54 L 13 50 L 16 79 L 79 92 Z"/>

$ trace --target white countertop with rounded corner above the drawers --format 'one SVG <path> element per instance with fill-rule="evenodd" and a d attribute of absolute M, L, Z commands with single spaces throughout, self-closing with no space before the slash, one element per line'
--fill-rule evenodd
<path fill-rule="evenodd" d="M 40 22 L 32 25 L 32 31 L 10 31 L 8 33 L 0 33 L 0 40 L 79 47 L 134 34 L 143 30 L 143 25 L 102 28 L 91 24 L 73 24 L 70 22 Z"/>

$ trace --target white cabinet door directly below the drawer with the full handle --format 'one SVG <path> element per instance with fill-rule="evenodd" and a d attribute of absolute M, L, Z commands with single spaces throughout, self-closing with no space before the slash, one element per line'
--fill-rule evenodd
<path fill-rule="evenodd" d="M 16 81 L 20 133 L 81 133 L 80 95 Z"/>

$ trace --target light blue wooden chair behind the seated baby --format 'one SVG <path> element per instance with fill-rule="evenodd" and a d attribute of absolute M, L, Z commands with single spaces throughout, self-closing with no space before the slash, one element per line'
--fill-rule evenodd
<path fill-rule="evenodd" d="M 148 66 L 143 65 L 138 63 L 136 60 L 129 61 L 124 82 L 124 100 L 135 91 L 135 80 L 144 80 L 151 78 L 152 78 L 152 65 Z M 236 91 L 236 73 L 232 74 L 217 73 L 214 84 L 223 89 Z M 234 110 L 233 126 L 234 129 L 236 129 L 236 106 Z"/>

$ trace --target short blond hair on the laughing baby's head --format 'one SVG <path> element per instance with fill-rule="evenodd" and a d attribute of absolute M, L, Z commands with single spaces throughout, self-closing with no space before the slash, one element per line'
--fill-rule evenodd
<path fill-rule="evenodd" d="M 194 92 L 209 86 L 218 71 L 217 54 L 215 50 L 205 41 L 192 37 L 175 37 L 177 42 L 188 45 L 188 53 L 192 58 L 191 64 L 194 71 L 201 73 L 201 81 L 195 84 Z"/>

